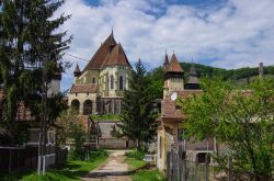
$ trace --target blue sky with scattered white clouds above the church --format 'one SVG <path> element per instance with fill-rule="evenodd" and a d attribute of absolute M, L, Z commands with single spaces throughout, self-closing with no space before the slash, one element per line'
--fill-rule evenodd
<path fill-rule="evenodd" d="M 67 0 L 57 14 L 71 14 L 62 30 L 73 35 L 69 54 L 90 59 L 112 26 L 132 64 L 148 69 L 174 50 L 181 61 L 221 68 L 274 64 L 273 0 Z M 62 76 L 61 89 L 73 83 L 76 63 Z"/>

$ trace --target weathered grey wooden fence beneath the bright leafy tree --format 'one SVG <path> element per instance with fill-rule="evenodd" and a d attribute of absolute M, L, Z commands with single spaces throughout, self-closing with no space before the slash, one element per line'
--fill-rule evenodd
<path fill-rule="evenodd" d="M 172 148 L 167 157 L 167 178 L 169 181 L 253 181 L 251 173 L 233 172 L 230 169 L 224 171 L 217 166 L 209 165 L 209 154 L 205 163 L 186 160 L 185 152 L 181 149 Z M 232 160 L 228 160 L 229 167 Z M 273 181 L 274 178 L 261 177 L 261 181 Z"/>

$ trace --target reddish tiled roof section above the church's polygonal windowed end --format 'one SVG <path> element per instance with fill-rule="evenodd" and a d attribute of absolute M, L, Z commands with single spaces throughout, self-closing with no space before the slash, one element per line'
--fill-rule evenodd
<path fill-rule="evenodd" d="M 110 65 L 130 66 L 121 44 L 115 45 L 112 53 L 106 56 L 104 64 L 102 66 L 110 66 Z"/>

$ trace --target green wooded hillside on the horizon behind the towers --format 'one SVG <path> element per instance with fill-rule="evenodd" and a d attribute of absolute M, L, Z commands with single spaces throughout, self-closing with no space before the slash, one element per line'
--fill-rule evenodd
<path fill-rule="evenodd" d="M 184 70 L 184 82 L 187 82 L 190 76 L 192 63 L 181 63 L 181 67 Z M 210 66 L 205 66 L 201 64 L 194 64 L 194 67 L 197 72 L 197 77 L 219 77 L 224 81 L 229 80 L 232 86 L 236 88 L 244 88 L 247 83 L 252 81 L 254 76 L 259 75 L 258 67 L 244 67 L 238 69 L 222 69 Z M 274 79 L 274 66 L 264 66 L 263 67 L 264 76 L 273 77 Z M 151 91 L 155 94 L 155 98 L 162 99 L 162 87 L 163 87 L 163 68 L 157 67 L 149 72 L 149 78 L 152 80 Z"/>

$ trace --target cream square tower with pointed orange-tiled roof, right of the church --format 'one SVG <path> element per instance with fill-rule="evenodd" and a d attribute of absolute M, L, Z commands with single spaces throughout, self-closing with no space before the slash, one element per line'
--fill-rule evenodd
<path fill-rule="evenodd" d="M 163 99 L 174 91 L 184 90 L 183 77 L 184 70 L 178 61 L 175 53 L 173 53 L 164 73 Z"/>

